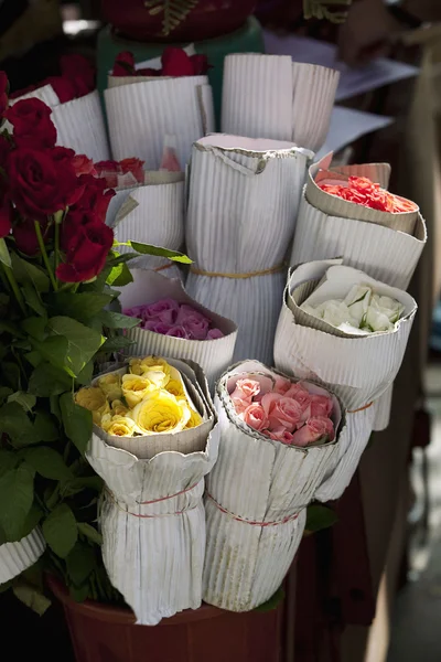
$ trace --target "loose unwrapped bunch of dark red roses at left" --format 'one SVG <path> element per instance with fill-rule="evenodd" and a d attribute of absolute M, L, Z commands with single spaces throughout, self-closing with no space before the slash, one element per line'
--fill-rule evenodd
<path fill-rule="evenodd" d="M 105 217 L 111 196 L 94 177 L 94 164 L 56 147 L 51 108 L 36 98 L 8 107 L 8 79 L 0 72 L 0 238 L 42 259 L 51 280 L 84 282 L 104 268 L 114 244 Z M 53 263 L 49 256 L 53 254 Z"/>

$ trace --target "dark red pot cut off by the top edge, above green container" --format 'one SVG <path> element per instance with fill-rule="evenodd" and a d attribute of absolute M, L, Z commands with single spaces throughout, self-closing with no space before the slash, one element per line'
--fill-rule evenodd
<path fill-rule="evenodd" d="M 151 14 L 144 0 L 101 0 L 105 19 L 122 35 L 138 41 L 202 41 L 244 25 L 257 0 L 198 0 L 169 35 L 162 31 L 163 11 Z"/>

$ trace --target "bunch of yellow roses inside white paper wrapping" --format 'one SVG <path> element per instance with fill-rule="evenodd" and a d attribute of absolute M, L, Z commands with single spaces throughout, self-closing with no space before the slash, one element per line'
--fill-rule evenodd
<path fill-rule="evenodd" d="M 130 359 L 128 369 L 98 377 L 75 399 L 95 425 L 117 437 L 172 434 L 203 423 L 181 373 L 159 356 Z"/>

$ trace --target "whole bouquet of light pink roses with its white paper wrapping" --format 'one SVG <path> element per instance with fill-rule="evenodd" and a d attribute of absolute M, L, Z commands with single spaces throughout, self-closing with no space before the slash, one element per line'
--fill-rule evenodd
<path fill-rule="evenodd" d="M 248 611 L 280 587 L 344 430 L 337 398 L 257 361 L 230 367 L 215 397 L 219 456 L 207 477 L 206 602 Z"/>

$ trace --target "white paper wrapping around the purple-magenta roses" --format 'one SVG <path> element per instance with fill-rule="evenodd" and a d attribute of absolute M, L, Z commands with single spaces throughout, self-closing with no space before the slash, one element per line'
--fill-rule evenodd
<path fill-rule="evenodd" d="M 230 365 L 237 338 L 237 327 L 204 308 L 189 297 L 178 279 L 165 278 L 161 274 L 143 269 L 132 269 L 133 282 L 121 288 L 119 301 L 122 308 L 153 303 L 159 299 L 172 298 L 180 303 L 189 303 L 213 321 L 213 325 L 224 333 L 215 340 L 185 340 L 161 335 L 144 329 L 128 329 L 127 337 L 135 342 L 130 353 L 137 355 L 155 354 L 172 359 L 191 360 L 201 365 L 212 391 L 216 380 Z"/>

